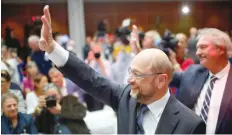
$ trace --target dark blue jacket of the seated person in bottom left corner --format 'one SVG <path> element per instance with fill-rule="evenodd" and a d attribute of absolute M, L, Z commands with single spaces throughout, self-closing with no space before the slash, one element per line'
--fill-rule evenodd
<path fill-rule="evenodd" d="M 3 114 L 1 116 L 1 134 L 37 134 L 37 128 L 31 115 L 18 114 L 18 124 L 13 129 L 11 121 Z"/>

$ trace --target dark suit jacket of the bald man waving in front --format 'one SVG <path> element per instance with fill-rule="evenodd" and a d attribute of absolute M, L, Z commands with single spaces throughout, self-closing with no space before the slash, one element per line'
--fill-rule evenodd
<path fill-rule="evenodd" d="M 83 90 L 116 111 L 119 134 L 136 133 L 137 101 L 130 96 L 130 85 L 118 85 L 103 78 L 72 54 L 69 54 L 67 63 L 60 70 Z M 156 133 L 205 133 L 205 125 L 200 117 L 171 96 L 160 118 Z"/>

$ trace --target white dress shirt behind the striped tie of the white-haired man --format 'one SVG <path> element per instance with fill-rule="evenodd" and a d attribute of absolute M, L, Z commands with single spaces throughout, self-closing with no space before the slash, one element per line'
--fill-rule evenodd
<path fill-rule="evenodd" d="M 222 101 L 222 97 L 224 94 L 225 85 L 226 85 L 226 81 L 228 78 L 229 70 L 230 70 L 230 63 L 228 62 L 228 64 L 226 65 L 226 67 L 223 70 L 221 70 L 220 72 L 218 72 L 217 74 L 214 75 L 218 79 L 214 83 L 214 87 L 213 87 L 212 95 L 211 95 L 211 99 L 210 99 L 208 119 L 206 122 L 206 133 L 207 134 L 215 134 L 218 116 L 219 116 L 219 111 L 220 111 L 220 107 L 221 107 L 221 101 Z M 194 107 L 194 111 L 199 116 L 201 114 L 201 109 L 203 107 L 203 103 L 205 100 L 205 94 L 207 92 L 207 89 L 208 89 L 208 86 L 210 83 L 210 77 L 212 75 L 213 74 L 210 72 L 209 77 L 206 80 L 206 82 L 201 90 L 200 96 L 198 97 L 198 100 L 197 100 L 195 107 Z"/>

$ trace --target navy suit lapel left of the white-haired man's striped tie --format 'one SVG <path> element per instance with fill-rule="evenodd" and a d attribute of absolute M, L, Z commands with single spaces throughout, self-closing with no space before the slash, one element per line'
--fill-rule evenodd
<path fill-rule="evenodd" d="M 192 92 L 191 92 L 191 99 L 192 100 L 192 105 L 194 105 L 201 93 L 201 89 L 203 88 L 205 81 L 207 79 L 209 75 L 209 71 L 205 68 L 203 68 L 202 70 L 199 71 L 199 73 L 196 74 L 196 76 L 193 78 L 193 88 L 192 88 Z M 191 106 L 190 108 L 192 108 L 193 106 Z"/>

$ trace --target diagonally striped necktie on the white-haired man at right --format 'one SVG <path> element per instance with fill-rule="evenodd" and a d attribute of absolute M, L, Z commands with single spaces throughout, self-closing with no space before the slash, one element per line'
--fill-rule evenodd
<path fill-rule="evenodd" d="M 213 86 L 214 86 L 214 83 L 216 80 L 217 80 L 217 77 L 215 77 L 213 75 L 210 77 L 210 83 L 209 83 L 207 92 L 205 94 L 205 100 L 203 102 L 203 107 L 201 109 L 200 116 L 204 120 L 205 123 L 207 122 L 209 106 L 210 106 L 210 99 L 211 99 L 211 95 L 212 95 Z"/>

